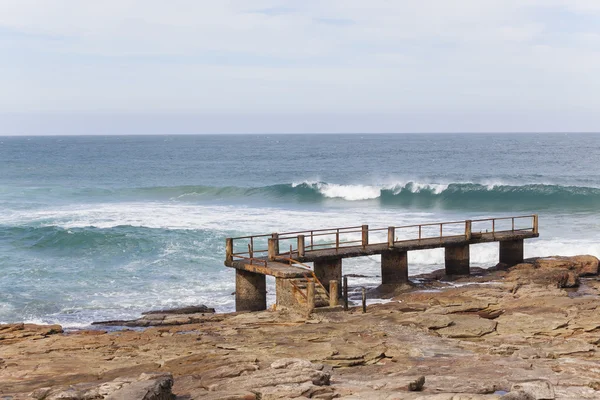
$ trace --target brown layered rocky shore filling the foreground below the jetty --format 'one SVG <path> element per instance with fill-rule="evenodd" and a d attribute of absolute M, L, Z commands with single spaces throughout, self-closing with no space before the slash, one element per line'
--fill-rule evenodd
<path fill-rule="evenodd" d="M 161 310 L 64 333 L 0 325 L 0 399 L 600 399 L 592 256 L 473 269 L 310 315 Z"/>

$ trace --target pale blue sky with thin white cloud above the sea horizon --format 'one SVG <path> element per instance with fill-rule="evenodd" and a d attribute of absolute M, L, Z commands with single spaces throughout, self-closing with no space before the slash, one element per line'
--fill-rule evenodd
<path fill-rule="evenodd" d="M 597 0 L 0 0 L 0 135 L 600 132 Z"/>

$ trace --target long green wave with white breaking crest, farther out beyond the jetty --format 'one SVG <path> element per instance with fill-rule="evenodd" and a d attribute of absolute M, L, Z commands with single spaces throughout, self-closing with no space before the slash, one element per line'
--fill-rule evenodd
<path fill-rule="evenodd" d="M 388 185 L 344 185 L 304 181 L 255 188 L 183 186 L 136 189 L 136 191 L 143 192 L 145 195 L 168 195 L 178 200 L 260 198 L 291 200 L 301 203 L 317 203 L 328 200 L 378 201 L 383 205 L 420 208 L 498 206 L 512 209 L 531 206 L 539 209 L 600 204 L 600 188 L 551 184 L 485 185 L 480 183 L 407 182 Z"/>

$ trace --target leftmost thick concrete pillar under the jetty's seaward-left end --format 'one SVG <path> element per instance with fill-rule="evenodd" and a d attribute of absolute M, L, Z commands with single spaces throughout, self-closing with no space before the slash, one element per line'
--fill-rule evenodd
<path fill-rule="evenodd" d="M 267 309 L 267 280 L 263 274 L 235 270 L 235 310 L 261 311 Z"/>

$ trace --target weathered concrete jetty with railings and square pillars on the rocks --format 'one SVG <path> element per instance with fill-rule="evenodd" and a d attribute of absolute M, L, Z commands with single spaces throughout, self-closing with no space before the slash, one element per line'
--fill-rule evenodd
<path fill-rule="evenodd" d="M 523 261 L 524 240 L 538 236 L 537 215 L 271 233 L 227 238 L 225 265 L 236 269 L 237 311 L 258 311 L 266 308 L 266 275 L 276 278 L 277 306 L 293 307 L 312 302 L 310 290 L 342 293 L 344 258 L 381 255 L 381 283 L 402 284 L 409 251 L 445 248 L 446 274 L 468 275 L 470 245 L 499 242 L 499 261 L 515 265 Z"/>

